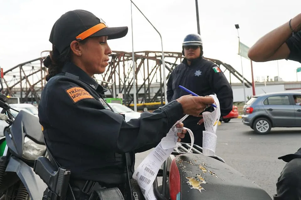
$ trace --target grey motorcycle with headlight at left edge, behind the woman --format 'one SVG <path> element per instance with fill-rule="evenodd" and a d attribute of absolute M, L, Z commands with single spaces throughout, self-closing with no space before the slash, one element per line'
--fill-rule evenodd
<path fill-rule="evenodd" d="M 0 138 L 0 199 L 41 199 L 47 186 L 33 171 L 35 159 L 47 156 L 39 119 L 17 110 L 18 115 L 14 117 L 6 103 L 8 98 L 1 93 L 1 78 L 0 85 L 0 107 L 3 108 L 0 119 L 8 123 L 4 137 Z"/>

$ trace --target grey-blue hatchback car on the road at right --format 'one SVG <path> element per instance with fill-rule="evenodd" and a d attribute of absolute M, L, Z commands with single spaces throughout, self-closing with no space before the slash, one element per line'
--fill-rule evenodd
<path fill-rule="evenodd" d="M 243 108 L 242 123 L 258 134 L 273 127 L 301 127 L 301 92 L 264 93 L 252 98 Z"/>

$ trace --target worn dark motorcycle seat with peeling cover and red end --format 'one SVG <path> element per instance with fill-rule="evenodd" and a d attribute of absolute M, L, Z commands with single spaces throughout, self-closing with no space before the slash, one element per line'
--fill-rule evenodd
<path fill-rule="evenodd" d="M 271 200 L 234 168 L 201 154 L 182 154 L 172 161 L 169 190 L 172 200 Z"/>

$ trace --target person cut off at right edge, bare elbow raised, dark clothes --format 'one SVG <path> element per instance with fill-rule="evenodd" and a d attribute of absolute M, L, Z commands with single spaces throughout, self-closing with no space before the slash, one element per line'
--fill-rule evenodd
<path fill-rule="evenodd" d="M 287 59 L 301 63 L 301 13 L 261 37 L 249 50 L 256 62 Z M 301 148 L 279 157 L 287 162 L 277 180 L 274 200 L 297 200 L 301 197 Z"/>

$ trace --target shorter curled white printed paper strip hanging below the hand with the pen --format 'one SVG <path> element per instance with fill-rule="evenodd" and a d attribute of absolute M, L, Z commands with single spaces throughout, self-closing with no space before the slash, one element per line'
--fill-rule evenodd
<path fill-rule="evenodd" d="M 219 124 L 220 118 L 220 107 L 219 100 L 215 95 L 209 95 L 214 98 L 215 105 L 217 108 L 214 108 L 213 112 L 203 112 L 204 126 L 205 131 L 203 131 L 203 154 L 204 155 L 214 155 L 217 136 L 216 131 Z M 209 152 L 206 149 L 210 150 Z"/>

